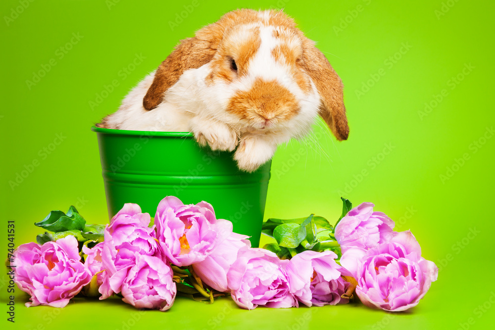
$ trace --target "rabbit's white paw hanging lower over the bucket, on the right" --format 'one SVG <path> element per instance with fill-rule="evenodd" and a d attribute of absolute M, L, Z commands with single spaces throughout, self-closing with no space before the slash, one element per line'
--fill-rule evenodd
<path fill-rule="evenodd" d="M 253 172 L 272 158 L 277 145 L 256 136 L 247 136 L 239 143 L 234 154 L 237 166 L 246 172 Z"/>

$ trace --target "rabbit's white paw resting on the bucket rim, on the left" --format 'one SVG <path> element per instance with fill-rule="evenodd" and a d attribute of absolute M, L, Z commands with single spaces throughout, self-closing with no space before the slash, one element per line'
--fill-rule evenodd
<path fill-rule="evenodd" d="M 199 145 L 208 144 L 212 150 L 233 151 L 239 143 L 237 134 L 221 123 L 201 123 L 193 129 Z"/>

